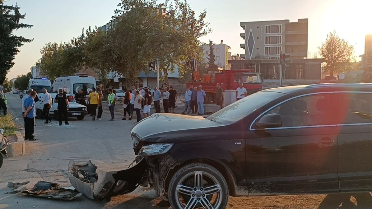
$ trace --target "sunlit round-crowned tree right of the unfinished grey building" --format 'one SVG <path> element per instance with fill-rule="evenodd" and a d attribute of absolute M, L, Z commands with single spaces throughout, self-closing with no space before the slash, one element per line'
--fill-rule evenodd
<path fill-rule="evenodd" d="M 355 62 L 354 47 L 344 39 L 341 39 L 335 31 L 327 35 L 327 39 L 319 47 L 319 53 L 325 60 L 324 72 L 344 72 Z"/>

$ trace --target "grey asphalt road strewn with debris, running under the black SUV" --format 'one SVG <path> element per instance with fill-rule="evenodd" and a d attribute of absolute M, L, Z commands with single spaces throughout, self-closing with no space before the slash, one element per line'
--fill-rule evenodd
<path fill-rule="evenodd" d="M 19 118 L 15 121 L 23 128 L 19 95 L 7 95 L 9 112 Z M 153 190 L 148 188 L 138 188 L 131 194 L 113 197 L 110 202 L 90 200 L 84 196 L 75 201 L 57 201 L 8 193 L 12 191 L 7 187 L 9 181 L 44 180 L 69 186 L 67 166 L 70 160 L 92 160 L 99 168 L 110 170 L 127 167 L 135 157 L 130 138 L 135 120 L 120 120 L 121 113 L 116 117 L 118 120 L 108 121 L 110 115 L 105 110 L 102 121 L 92 121 L 90 117 L 86 117 L 82 121 L 72 120 L 68 126 L 58 126 L 55 120 L 46 125 L 44 120 L 36 119 L 35 138 L 38 141 L 26 141 L 27 154 L 5 158 L 0 169 L 0 209 L 168 209 L 169 204 L 157 198 Z M 227 208 L 317 209 L 325 197 L 330 196 L 230 197 Z M 350 208 L 362 209 L 357 206 Z"/>

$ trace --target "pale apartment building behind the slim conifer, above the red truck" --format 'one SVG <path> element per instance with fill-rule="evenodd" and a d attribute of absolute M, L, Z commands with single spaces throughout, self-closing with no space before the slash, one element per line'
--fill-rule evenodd
<path fill-rule="evenodd" d="M 209 53 L 211 51 L 209 45 L 201 45 L 199 47 L 203 51 L 204 61 L 208 62 Z M 231 60 L 230 46 L 227 44 L 213 44 L 213 53 L 215 56 L 214 64 L 224 70 L 231 70 L 230 64 L 228 64 L 228 60 Z"/>

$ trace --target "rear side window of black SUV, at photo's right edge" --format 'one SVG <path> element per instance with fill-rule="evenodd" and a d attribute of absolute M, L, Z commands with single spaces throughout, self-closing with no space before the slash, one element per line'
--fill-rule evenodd
<path fill-rule="evenodd" d="M 371 93 L 339 93 L 341 101 L 341 124 L 371 123 Z"/>

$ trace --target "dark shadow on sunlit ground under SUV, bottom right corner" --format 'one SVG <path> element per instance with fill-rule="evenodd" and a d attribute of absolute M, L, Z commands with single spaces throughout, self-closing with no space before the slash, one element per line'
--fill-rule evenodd
<path fill-rule="evenodd" d="M 371 209 L 372 196 L 369 193 L 328 194 L 318 209 Z"/>

